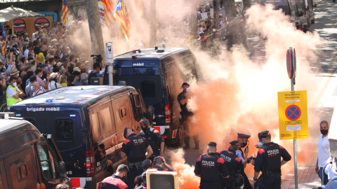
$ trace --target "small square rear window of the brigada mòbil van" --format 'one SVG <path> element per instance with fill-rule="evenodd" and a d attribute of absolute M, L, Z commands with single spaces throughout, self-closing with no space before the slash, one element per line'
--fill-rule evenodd
<path fill-rule="evenodd" d="M 55 120 L 55 139 L 58 142 L 74 141 L 74 120 L 70 118 L 58 118 Z"/>

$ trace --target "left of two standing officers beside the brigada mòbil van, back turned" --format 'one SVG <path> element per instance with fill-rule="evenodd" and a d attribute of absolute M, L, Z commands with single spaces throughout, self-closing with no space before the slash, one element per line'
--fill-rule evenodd
<path fill-rule="evenodd" d="M 121 158 L 128 157 L 128 188 L 133 188 L 136 176 L 143 172 L 143 168 L 140 165 L 144 160 L 150 158 L 153 151 L 149 142 L 133 133 L 131 128 L 126 127 L 124 129 L 124 138 L 126 140 L 121 146 Z M 145 155 L 145 153 L 147 154 Z"/>

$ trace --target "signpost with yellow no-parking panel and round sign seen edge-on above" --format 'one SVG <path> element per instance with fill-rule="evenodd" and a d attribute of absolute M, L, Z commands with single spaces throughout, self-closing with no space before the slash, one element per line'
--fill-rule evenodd
<path fill-rule="evenodd" d="M 291 79 L 291 92 L 278 92 L 279 139 L 293 139 L 295 188 L 298 189 L 296 139 L 308 139 L 307 91 L 294 91 L 296 78 L 296 50 L 286 51 L 286 71 Z"/>

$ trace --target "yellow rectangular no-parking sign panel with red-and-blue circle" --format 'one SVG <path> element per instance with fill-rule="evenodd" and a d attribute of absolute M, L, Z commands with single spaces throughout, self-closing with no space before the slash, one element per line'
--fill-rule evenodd
<path fill-rule="evenodd" d="M 279 139 L 308 139 L 307 91 L 277 92 Z"/>

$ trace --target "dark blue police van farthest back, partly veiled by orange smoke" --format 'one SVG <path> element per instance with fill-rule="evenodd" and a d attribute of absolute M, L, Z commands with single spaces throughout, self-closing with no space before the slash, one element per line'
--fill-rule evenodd
<path fill-rule="evenodd" d="M 171 145 L 180 146 L 184 137 L 177 100 L 181 84 L 201 80 L 198 73 L 197 59 L 188 48 L 147 48 L 114 57 L 114 85 L 140 90 L 146 106 L 154 108 L 154 128 Z"/>

